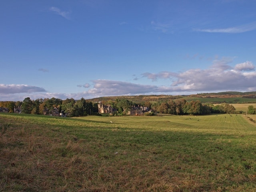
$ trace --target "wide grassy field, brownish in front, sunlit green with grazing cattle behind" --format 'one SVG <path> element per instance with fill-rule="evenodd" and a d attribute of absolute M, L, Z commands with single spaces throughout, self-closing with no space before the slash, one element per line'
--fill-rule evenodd
<path fill-rule="evenodd" d="M 256 116 L 250 116 L 256 120 Z M 0 114 L 0 191 L 254 192 L 245 115 L 54 118 Z"/>

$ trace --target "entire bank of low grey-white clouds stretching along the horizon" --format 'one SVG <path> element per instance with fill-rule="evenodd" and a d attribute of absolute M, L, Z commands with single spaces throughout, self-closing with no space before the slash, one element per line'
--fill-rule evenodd
<path fill-rule="evenodd" d="M 256 90 L 256 71 L 255 66 L 250 61 L 236 64 L 234 67 L 228 65 L 227 60 L 214 60 L 212 66 L 207 69 L 189 69 L 184 72 L 176 73 L 163 71 L 158 73 L 145 72 L 141 78 L 147 78 L 152 81 L 158 79 L 168 79 L 169 86 L 156 86 L 150 84 L 136 84 L 115 80 L 92 80 L 93 88 L 90 84 L 78 85 L 88 90 L 80 93 L 44 93 L 44 88 L 19 84 L 0 84 L 0 96 L 17 95 L 16 100 L 24 98 L 18 95 L 22 93 L 37 98 L 97 98 L 101 96 L 122 96 L 122 95 L 142 95 L 142 94 L 193 94 L 196 92 L 214 92 L 226 90 Z M 43 92 L 42 94 L 38 92 Z M 24 94 L 25 93 L 25 94 Z M 8 100 L 8 97 L 6 97 Z"/>

